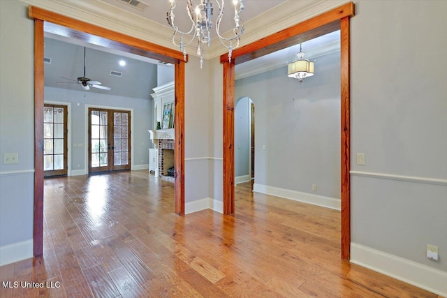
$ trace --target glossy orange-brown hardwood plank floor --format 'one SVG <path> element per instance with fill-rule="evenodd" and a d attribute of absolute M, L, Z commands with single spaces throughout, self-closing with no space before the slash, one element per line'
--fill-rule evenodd
<path fill-rule="evenodd" d="M 339 211 L 251 184 L 235 200 L 234 216 L 183 217 L 173 184 L 146 170 L 45 179 L 43 258 L 0 267 L 19 282 L 0 296 L 437 297 L 342 262 Z"/>

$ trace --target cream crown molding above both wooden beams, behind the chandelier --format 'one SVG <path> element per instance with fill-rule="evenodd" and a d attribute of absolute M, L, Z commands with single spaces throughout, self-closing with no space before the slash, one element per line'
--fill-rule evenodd
<path fill-rule="evenodd" d="M 60 15 L 73 17 L 98 27 L 124 33 L 135 38 L 147 40 L 163 47 L 179 50 L 173 45 L 173 30 L 168 25 L 159 24 L 145 17 L 119 9 L 99 0 L 20 0 L 29 5 L 50 10 Z M 265 13 L 245 22 L 242 44 L 253 43 L 259 38 L 269 36 L 294 24 L 321 14 L 347 3 L 347 0 L 288 0 Z M 214 38 L 216 39 L 216 38 Z M 219 40 L 212 40 L 210 47 L 205 48 L 204 59 L 213 59 L 227 52 Z M 188 54 L 197 56 L 196 49 L 189 46 Z"/>

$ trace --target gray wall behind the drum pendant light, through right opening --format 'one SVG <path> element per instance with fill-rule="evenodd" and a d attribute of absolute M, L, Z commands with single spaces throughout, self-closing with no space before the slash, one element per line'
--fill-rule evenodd
<path fill-rule="evenodd" d="M 256 184 L 340 198 L 339 56 L 318 57 L 302 83 L 287 67 L 236 81 L 255 105 Z"/>

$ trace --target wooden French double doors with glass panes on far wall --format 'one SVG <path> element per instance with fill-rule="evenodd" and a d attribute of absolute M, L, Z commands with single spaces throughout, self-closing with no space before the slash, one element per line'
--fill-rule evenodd
<path fill-rule="evenodd" d="M 89 107 L 89 172 L 131 169 L 131 112 Z"/>

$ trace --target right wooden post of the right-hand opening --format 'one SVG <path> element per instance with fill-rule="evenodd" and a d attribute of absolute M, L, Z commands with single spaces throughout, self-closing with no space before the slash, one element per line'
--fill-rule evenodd
<path fill-rule="evenodd" d="M 351 258 L 351 150 L 350 150 L 350 31 L 349 17 L 340 20 L 340 68 L 342 89 L 342 260 Z"/>

